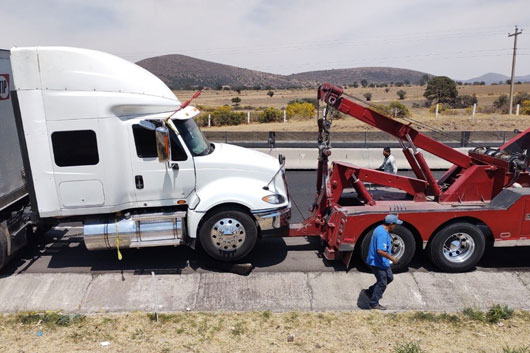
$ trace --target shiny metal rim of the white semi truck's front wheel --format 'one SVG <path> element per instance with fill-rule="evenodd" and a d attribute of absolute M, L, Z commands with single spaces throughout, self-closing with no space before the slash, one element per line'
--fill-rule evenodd
<path fill-rule="evenodd" d="M 212 244 L 223 251 L 239 249 L 245 242 L 246 235 L 245 227 L 234 218 L 218 220 L 210 231 Z"/>

